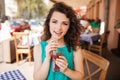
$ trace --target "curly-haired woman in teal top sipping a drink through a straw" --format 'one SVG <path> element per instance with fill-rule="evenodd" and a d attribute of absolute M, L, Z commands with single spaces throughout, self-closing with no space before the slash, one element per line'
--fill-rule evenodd
<path fill-rule="evenodd" d="M 84 69 L 79 35 L 79 21 L 73 9 L 56 3 L 46 18 L 42 41 L 34 48 L 34 80 L 82 80 Z M 58 48 L 64 53 L 55 61 L 60 71 L 54 72 L 51 58 Z"/>

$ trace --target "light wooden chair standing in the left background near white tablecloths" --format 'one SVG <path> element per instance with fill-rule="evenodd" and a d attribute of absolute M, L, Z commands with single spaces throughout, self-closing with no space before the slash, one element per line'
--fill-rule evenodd
<path fill-rule="evenodd" d="M 27 54 L 27 59 L 31 62 L 33 47 L 30 47 L 29 33 L 14 32 L 14 43 L 16 48 L 16 62 L 18 64 L 19 57 L 23 59 L 23 54 Z M 20 55 L 20 56 L 19 56 Z"/>

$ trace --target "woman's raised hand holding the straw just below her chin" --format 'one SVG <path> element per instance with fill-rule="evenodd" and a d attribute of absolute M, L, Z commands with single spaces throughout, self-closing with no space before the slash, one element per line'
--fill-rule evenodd
<path fill-rule="evenodd" d="M 57 43 L 55 40 L 50 40 L 46 46 L 46 58 L 51 59 L 53 51 L 57 49 Z"/>

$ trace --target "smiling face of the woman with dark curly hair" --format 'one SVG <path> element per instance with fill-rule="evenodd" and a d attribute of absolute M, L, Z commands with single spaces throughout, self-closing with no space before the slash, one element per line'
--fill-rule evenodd
<path fill-rule="evenodd" d="M 52 38 L 64 39 L 69 29 L 70 21 L 65 14 L 55 11 L 51 16 L 49 25 Z"/>

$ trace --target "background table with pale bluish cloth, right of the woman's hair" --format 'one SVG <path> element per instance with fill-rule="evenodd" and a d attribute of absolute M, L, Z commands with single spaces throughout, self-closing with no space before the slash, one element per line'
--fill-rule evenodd
<path fill-rule="evenodd" d="M 80 35 L 80 38 L 83 41 L 89 42 L 90 45 L 92 45 L 94 41 L 97 41 L 100 39 L 100 34 L 98 34 L 98 33 L 88 33 L 88 34 L 83 33 Z"/>

